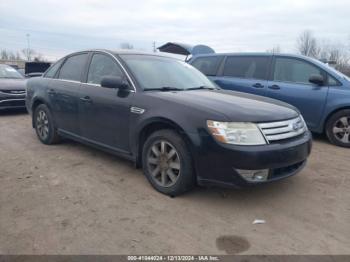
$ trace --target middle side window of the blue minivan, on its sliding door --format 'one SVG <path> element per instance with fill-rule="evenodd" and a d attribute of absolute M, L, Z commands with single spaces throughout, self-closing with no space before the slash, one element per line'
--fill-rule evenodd
<path fill-rule="evenodd" d="M 224 76 L 267 79 L 269 57 L 231 56 L 226 59 Z"/>

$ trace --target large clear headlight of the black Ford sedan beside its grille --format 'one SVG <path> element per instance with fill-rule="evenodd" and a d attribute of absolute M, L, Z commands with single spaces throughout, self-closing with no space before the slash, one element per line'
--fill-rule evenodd
<path fill-rule="evenodd" d="M 219 142 L 234 145 L 265 145 L 260 129 L 253 123 L 208 120 L 211 135 Z"/>

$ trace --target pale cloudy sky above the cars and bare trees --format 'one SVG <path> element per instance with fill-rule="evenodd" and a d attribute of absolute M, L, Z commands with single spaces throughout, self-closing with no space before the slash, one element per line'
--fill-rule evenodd
<path fill-rule="evenodd" d="M 123 42 L 205 44 L 216 52 L 296 52 L 311 30 L 350 47 L 349 0 L 0 0 L 0 49 L 30 48 L 49 60 Z M 29 34 L 29 37 L 27 35 Z"/>

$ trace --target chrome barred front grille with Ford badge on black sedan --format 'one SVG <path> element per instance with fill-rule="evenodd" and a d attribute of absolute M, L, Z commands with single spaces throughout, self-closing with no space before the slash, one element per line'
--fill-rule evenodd
<path fill-rule="evenodd" d="M 268 142 L 293 138 L 306 131 L 305 122 L 300 116 L 285 121 L 260 123 L 258 126 Z"/>

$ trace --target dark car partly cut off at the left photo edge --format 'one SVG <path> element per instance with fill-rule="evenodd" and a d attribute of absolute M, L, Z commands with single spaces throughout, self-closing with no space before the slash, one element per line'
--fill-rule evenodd
<path fill-rule="evenodd" d="M 16 69 L 0 64 L 0 110 L 25 108 L 25 83 Z"/>

